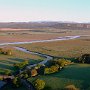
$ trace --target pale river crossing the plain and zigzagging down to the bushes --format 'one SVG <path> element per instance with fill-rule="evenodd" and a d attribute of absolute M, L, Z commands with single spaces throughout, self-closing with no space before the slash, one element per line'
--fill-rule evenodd
<path fill-rule="evenodd" d="M 38 43 L 38 42 L 52 42 L 52 41 L 61 41 L 61 40 L 71 40 L 71 39 L 76 39 L 76 38 L 80 38 L 81 36 L 90 36 L 90 35 L 79 35 L 79 36 L 64 36 L 64 37 L 58 37 L 56 39 L 50 39 L 50 40 L 36 40 L 36 41 L 31 41 L 31 42 L 9 42 L 9 43 L 0 43 L 0 46 L 3 46 L 3 45 L 14 45 L 14 44 L 29 44 L 29 43 Z M 29 51 L 25 48 L 22 48 L 22 47 L 13 47 L 17 50 L 20 50 L 22 52 L 25 52 L 25 53 L 29 53 L 29 54 L 34 54 L 34 55 L 38 55 L 38 56 L 41 56 L 41 57 L 44 57 L 45 60 L 41 61 L 40 63 L 38 64 L 45 64 L 47 63 L 47 61 L 49 60 L 52 60 L 53 57 L 49 56 L 49 55 L 45 55 L 45 54 L 41 54 L 41 53 L 37 53 L 37 52 L 32 52 L 32 51 Z M 31 67 L 34 67 L 36 66 L 37 64 L 33 64 L 33 65 L 29 65 L 27 66 L 27 68 L 31 68 Z"/>

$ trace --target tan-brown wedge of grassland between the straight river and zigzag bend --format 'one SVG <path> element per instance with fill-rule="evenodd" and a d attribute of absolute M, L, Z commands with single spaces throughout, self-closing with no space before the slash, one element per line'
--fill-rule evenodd
<path fill-rule="evenodd" d="M 90 39 L 75 39 L 55 42 L 16 45 L 57 57 L 73 58 L 81 54 L 90 53 Z"/>

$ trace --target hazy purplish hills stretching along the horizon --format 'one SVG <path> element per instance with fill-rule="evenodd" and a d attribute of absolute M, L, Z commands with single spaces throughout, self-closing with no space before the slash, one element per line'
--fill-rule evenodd
<path fill-rule="evenodd" d="M 42 28 L 55 28 L 55 29 L 90 29 L 90 23 L 64 23 L 64 22 L 7 22 L 0 23 L 1 28 L 13 29 L 42 29 Z"/>

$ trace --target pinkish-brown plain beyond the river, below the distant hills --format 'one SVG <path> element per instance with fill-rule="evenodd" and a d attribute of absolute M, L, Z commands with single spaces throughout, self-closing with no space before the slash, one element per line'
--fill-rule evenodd
<path fill-rule="evenodd" d="M 29 31 L 0 31 L 0 43 L 24 42 L 32 40 L 54 39 L 70 35 L 90 35 L 90 30 L 43 30 L 44 32 Z M 46 32 L 47 31 L 47 32 Z"/>

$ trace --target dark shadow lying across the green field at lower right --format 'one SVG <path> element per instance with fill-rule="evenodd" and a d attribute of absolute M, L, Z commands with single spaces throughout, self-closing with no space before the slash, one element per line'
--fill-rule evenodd
<path fill-rule="evenodd" d="M 54 77 L 76 79 L 76 80 L 90 80 L 90 66 L 80 67 L 77 65 L 66 66 L 63 70 L 52 74 Z"/>

